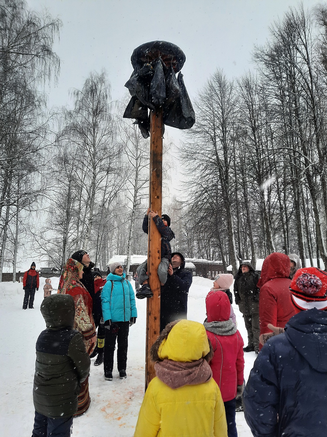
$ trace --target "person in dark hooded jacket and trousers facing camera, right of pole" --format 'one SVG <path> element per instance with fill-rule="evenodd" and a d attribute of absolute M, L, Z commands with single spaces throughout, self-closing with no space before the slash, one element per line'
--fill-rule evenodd
<path fill-rule="evenodd" d="M 259 274 L 250 261 L 242 261 L 234 282 L 235 304 L 243 314 L 245 328 L 248 331 L 248 346 L 244 352 L 255 350 L 259 354 Z"/>

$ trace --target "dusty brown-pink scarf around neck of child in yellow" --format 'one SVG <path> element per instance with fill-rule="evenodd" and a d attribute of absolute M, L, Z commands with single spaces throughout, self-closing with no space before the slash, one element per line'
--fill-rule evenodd
<path fill-rule="evenodd" d="M 184 385 L 203 384 L 210 381 L 212 371 L 203 358 L 190 363 L 164 360 L 154 364 L 157 377 L 170 388 L 180 388 Z"/>

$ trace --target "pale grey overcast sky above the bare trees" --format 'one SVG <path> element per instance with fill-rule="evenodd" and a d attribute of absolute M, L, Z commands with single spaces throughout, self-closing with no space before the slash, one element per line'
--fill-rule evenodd
<path fill-rule="evenodd" d="M 133 50 L 148 41 L 177 44 L 186 55 L 182 69 L 191 97 L 217 68 L 232 79 L 252 69 L 254 45 L 264 44 L 269 25 L 296 0 L 28 0 L 63 23 L 54 51 L 61 59 L 49 107 L 70 104 L 69 90 L 81 88 L 91 71 L 106 69 L 112 100 L 121 99 L 133 68 Z M 304 0 L 311 9 L 316 0 Z M 166 131 L 178 144 L 181 133 Z M 178 175 L 177 180 L 179 179 Z"/>

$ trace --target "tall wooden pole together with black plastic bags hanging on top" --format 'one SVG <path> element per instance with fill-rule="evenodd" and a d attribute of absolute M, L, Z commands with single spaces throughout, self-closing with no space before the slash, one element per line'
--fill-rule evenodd
<path fill-rule="evenodd" d="M 195 122 L 183 75 L 179 73 L 176 78 L 185 59 L 183 51 L 171 42 L 147 42 L 133 51 L 131 62 L 134 71 L 125 84 L 132 98 L 123 117 L 136 119 L 144 138 L 150 134 L 149 207 L 160 217 L 164 124 L 189 129 Z M 148 274 L 153 297 L 147 298 L 146 303 L 145 388 L 156 376 L 150 349 L 160 334 L 160 280 L 157 270 L 161 259 L 161 235 L 150 216 L 148 233 Z"/>

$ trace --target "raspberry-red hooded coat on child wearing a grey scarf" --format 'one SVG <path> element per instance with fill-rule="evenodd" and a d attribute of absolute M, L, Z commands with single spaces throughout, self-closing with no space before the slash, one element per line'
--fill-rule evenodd
<path fill-rule="evenodd" d="M 229 319 L 231 304 L 224 291 L 210 292 L 206 298 L 207 322 L 223 322 Z M 214 349 L 210 364 L 212 377 L 218 384 L 222 400 L 230 401 L 236 397 L 237 386 L 243 384 L 244 342 L 236 331 L 232 335 L 217 335 L 207 330 Z"/>

